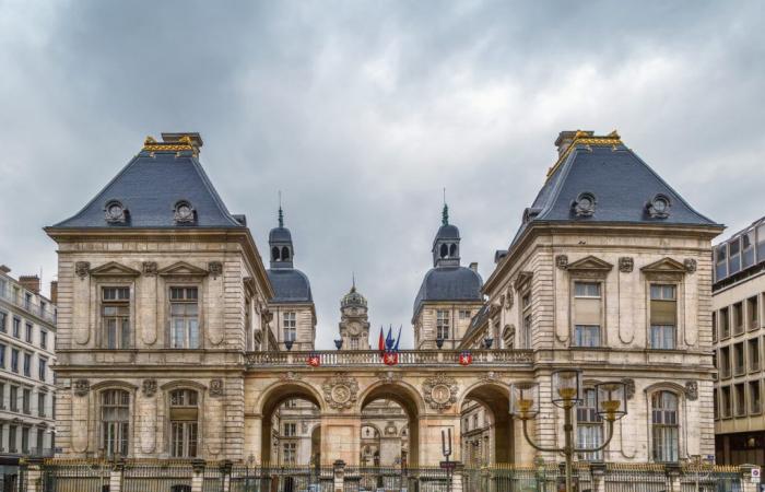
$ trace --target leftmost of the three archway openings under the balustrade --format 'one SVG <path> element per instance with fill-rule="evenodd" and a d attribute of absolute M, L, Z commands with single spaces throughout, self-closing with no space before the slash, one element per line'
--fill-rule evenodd
<path fill-rule="evenodd" d="M 299 384 L 279 384 L 263 397 L 261 460 L 276 466 L 321 462 L 317 396 Z"/>

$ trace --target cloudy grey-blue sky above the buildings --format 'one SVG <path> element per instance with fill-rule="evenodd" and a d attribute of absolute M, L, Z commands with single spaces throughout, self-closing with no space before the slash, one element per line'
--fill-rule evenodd
<path fill-rule="evenodd" d="M 619 129 L 732 232 L 765 214 L 764 10 L 0 0 L 0 263 L 52 280 L 42 227 L 161 131 L 201 132 L 263 253 L 282 190 L 325 348 L 352 271 L 373 326 L 409 327 L 444 187 L 486 278 L 564 129 Z"/>

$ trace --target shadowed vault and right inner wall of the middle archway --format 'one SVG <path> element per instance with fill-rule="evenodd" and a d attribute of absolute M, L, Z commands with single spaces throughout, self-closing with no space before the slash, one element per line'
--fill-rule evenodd
<path fill-rule="evenodd" d="M 400 456 L 402 467 L 414 467 L 420 461 L 420 415 L 423 411 L 423 402 L 419 394 L 403 384 L 379 383 L 367 388 L 360 398 L 360 411 L 376 401 L 392 401 L 404 412 L 408 423 L 402 429 L 397 429 L 400 437 L 405 437 L 408 447 Z M 385 433 L 385 430 L 381 431 Z M 403 436 L 401 434 L 403 433 Z"/>

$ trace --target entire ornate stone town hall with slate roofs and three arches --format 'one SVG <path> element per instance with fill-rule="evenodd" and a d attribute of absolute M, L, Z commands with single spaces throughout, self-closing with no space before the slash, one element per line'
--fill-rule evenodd
<path fill-rule="evenodd" d="M 603 440 L 592 385 L 615 378 L 628 388 L 614 441 L 580 459 L 713 454 L 710 251 L 722 226 L 615 133 L 563 132 L 556 144 L 557 161 L 485 283 L 460 265 L 445 208 L 414 303 L 416 350 L 386 365 L 348 340 L 343 350 L 313 350 L 309 285 L 294 271 L 283 223 L 266 270 L 245 218 L 228 213 L 201 168 L 199 136 L 148 139 L 81 212 L 46 229 L 59 247 L 63 454 L 262 462 L 280 459 L 284 440 L 310 435 L 301 459 L 356 465 L 375 453 L 385 461 L 382 438 L 395 427 L 405 430 L 410 465 L 442 460 L 447 429 L 483 443 L 472 454 L 456 442 L 451 459 L 556 460 L 525 441 L 508 400 L 511 384 L 538 382 L 545 418 L 531 434 L 558 445 L 563 417 L 549 401 L 558 367 L 584 371 L 575 425 L 587 447 Z M 276 312 L 298 306 L 287 347 L 292 318 Z M 317 423 L 281 435 L 290 419 L 307 421 L 285 408 L 295 399 L 313 406 Z M 392 403 L 400 423 L 365 425 L 370 409 Z"/>

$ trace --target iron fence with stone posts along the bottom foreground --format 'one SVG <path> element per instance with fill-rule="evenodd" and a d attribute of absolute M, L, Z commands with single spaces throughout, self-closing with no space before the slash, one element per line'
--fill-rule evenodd
<path fill-rule="evenodd" d="M 751 467 L 577 464 L 576 492 L 758 492 Z M 286 467 L 202 460 L 27 461 L 13 492 L 557 492 L 558 464 L 534 467 Z"/>

